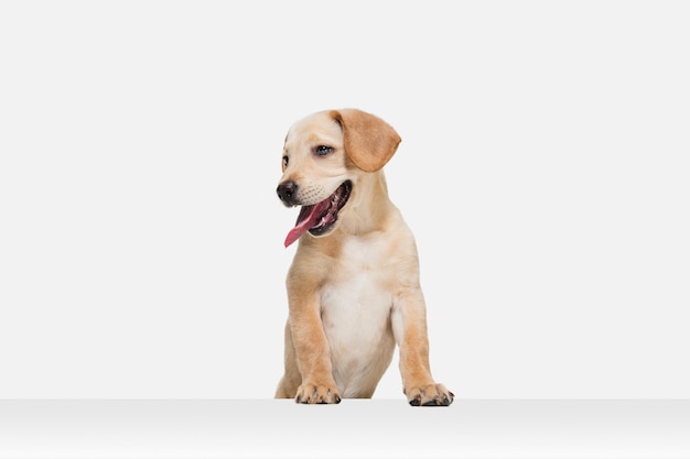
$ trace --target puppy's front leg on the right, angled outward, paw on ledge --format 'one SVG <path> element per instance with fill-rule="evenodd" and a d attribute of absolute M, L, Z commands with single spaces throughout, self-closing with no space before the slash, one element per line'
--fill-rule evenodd
<path fill-rule="evenodd" d="M 421 289 L 407 288 L 396 299 L 392 329 L 400 348 L 400 374 L 403 393 L 413 406 L 448 406 L 453 393 L 436 384 L 429 365 L 427 308 Z"/>

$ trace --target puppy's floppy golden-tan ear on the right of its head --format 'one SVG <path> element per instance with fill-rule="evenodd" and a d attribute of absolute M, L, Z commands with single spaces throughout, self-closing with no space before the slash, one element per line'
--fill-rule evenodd
<path fill-rule="evenodd" d="M 380 118 L 354 108 L 331 110 L 330 114 L 343 128 L 345 153 L 360 170 L 380 170 L 398 149 L 400 135 Z"/>

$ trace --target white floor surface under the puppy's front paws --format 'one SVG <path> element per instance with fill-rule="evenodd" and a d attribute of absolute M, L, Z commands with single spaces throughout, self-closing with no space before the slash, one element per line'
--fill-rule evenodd
<path fill-rule="evenodd" d="M 0 458 L 690 458 L 690 400 L 4 400 Z"/>

